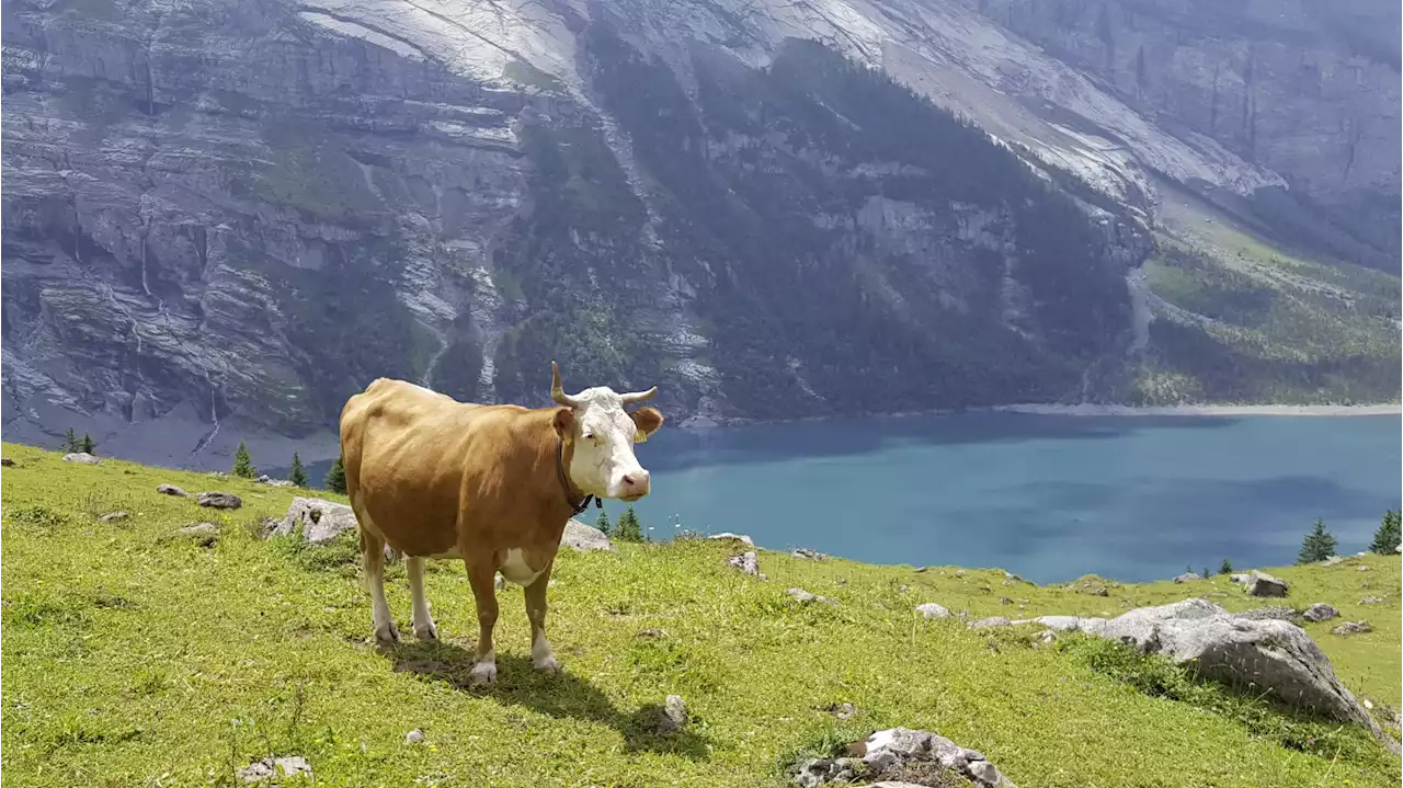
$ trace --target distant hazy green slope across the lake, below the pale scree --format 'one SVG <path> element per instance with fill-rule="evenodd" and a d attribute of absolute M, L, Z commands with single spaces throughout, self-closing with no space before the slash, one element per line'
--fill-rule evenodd
<path fill-rule="evenodd" d="M 1393 320 L 1403 315 L 1403 279 L 1284 251 L 1180 191 L 1166 189 L 1163 230 L 1163 248 L 1198 261 L 1191 268 L 1166 255 L 1149 261 L 1150 290 L 1209 318 L 1201 331 L 1222 349 L 1174 348 L 1183 335 L 1157 332 L 1159 352 L 1141 370 L 1138 398 L 1354 404 L 1403 397 L 1403 324 Z"/>

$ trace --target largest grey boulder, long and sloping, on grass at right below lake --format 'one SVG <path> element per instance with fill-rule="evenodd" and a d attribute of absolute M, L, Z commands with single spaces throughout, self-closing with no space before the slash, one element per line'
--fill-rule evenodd
<path fill-rule="evenodd" d="M 1035 621 L 1162 653 L 1179 665 L 1193 665 L 1204 677 L 1250 687 L 1288 707 L 1355 722 L 1381 735 L 1374 718 L 1336 677 L 1320 646 L 1289 621 L 1233 616 L 1207 599 L 1141 607 L 1110 620 L 1048 616 Z"/>

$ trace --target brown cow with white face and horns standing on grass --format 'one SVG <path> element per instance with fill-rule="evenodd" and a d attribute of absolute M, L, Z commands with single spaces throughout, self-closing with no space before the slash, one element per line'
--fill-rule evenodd
<path fill-rule="evenodd" d="M 662 426 L 662 414 L 624 407 L 652 397 L 657 387 L 619 394 L 599 386 L 571 395 L 556 362 L 550 366 L 551 408 L 459 402 L 382 377 L 341 411 L 347 492 L 361 524 L 375 637 L 400 637 L 384 600 L 386 544 L 404 555 L 419 639 L 438 637 L 424 599 L 424 561 L 460 558 L 477 603 L 476 683 L 497 677 L 497 572 L 525 587 L 532 662 L 556 672 L 546 641 L 546 583 L 565 523 L 591 498 L 637 501 L 648 494 L 648 471 L 633 444 Z"/>

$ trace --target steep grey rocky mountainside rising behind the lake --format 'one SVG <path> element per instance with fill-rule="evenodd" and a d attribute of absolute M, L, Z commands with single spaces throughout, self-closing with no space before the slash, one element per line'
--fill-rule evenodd
<path fill-rule="evenodd" d="M 335 453 L 377 376 L 678 422 L 1403 388 L 1403 11 L 0 6 L 0 436 Z"/>

